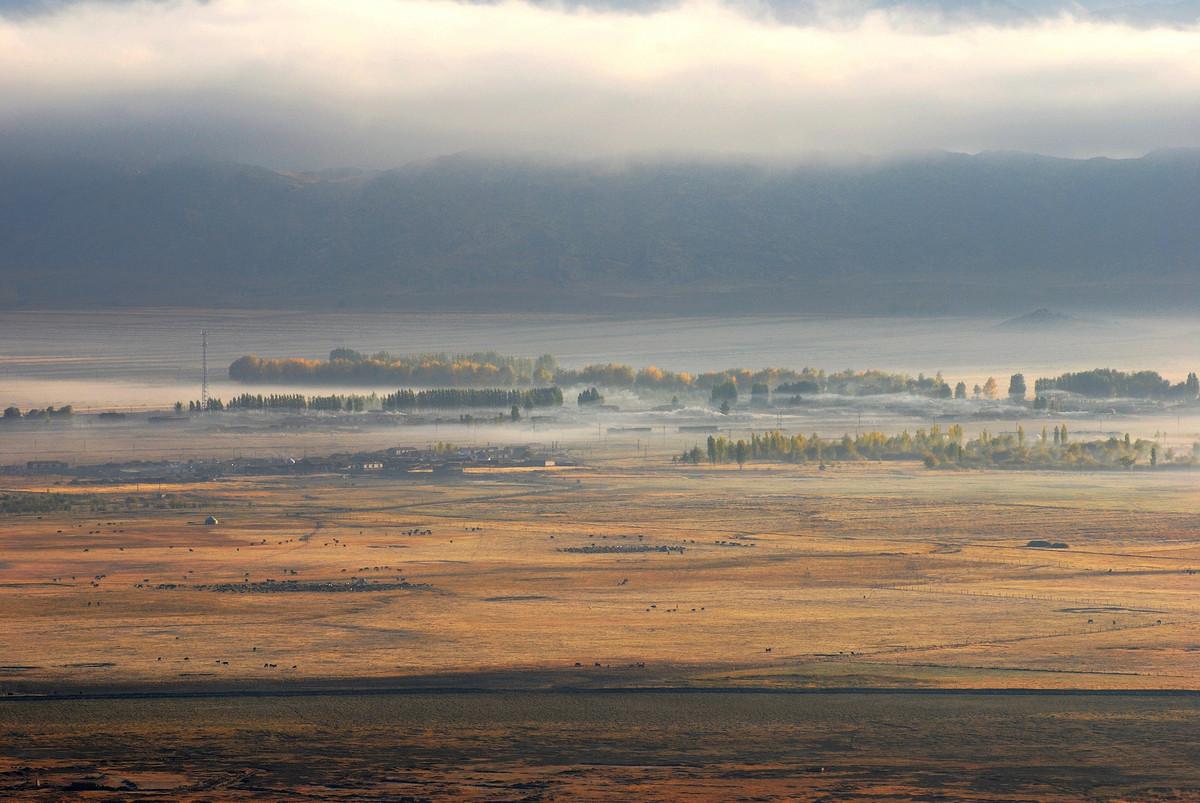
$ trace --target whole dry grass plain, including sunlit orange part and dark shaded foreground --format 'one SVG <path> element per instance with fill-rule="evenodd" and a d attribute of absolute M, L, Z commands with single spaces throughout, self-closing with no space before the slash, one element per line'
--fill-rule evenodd
<path fill-rule="evenodd" d="M 74 503 L 0 519 L 0 795 L 1200 790 L 1187 473 L 5 485 Z"/>

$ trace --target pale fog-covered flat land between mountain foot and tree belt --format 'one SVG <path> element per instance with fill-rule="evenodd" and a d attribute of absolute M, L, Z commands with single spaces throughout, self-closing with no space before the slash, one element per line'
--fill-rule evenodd
<path fill-rule="evenodd" d="M 224 397 L 242 390 L 226 379 L 229 362 L 242 354 L 324 358 L 341 346 L 397 354 L 551 353 L 570 367 L 616 361 L 691 372 L 738 366 L 941 371 L 952 384 L 961 379 L 968 386 L 995 376 L 1002 389 L 1016 371 L 1032 388 L 1038 376 L 1093 367 L 1150 368 L 1180 380 L 1200 364 L 1200 324 L 1193 319 L 1078 313 L 1058 325 L 1016 330 L 1004 328 L 1004 320 L 10 311 L 0 312 L 0 405 L 152 408 L 196 398 L 205 328 L 211 391 Z M 362 390 L 370 389 L 320 392 Z"/>

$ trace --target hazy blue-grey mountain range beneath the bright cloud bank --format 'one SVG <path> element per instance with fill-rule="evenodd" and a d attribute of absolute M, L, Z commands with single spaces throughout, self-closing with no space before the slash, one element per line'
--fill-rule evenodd
<path fill-rule="evenodd" d="M 1015 312 L 1200 300 L 1200 151 L 0 161 L 0 306 Z"/>

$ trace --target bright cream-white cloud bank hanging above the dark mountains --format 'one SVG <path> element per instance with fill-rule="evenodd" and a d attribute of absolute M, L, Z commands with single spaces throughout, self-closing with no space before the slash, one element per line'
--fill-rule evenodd
<path fill-rule="evenodd" d="M 1200 145 L 1200 26 L 847 7 L 0 0 L 0 152 L 314 168 Z"/>

